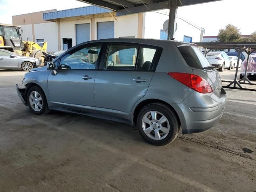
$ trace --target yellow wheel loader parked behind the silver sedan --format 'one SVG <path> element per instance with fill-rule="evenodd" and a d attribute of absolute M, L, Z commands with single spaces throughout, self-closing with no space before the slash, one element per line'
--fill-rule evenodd
<path fill-rule="evenodd" d="M 47 42 L 42 46 L 30 41 L 22 41 L 22 28 L 9 24 L 0 24 L 0 49 L 6 49 L 20 56 L 30 56 L 41 60 L 44 66 L 44 58 L 48 55 Z"/>

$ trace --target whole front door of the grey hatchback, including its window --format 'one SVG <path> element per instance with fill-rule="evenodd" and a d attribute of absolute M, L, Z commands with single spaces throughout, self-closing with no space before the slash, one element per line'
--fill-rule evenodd
<path fill-rule="evenodd" d="M 60 58 L 57 74 L 48 77 L 52 106 L 90 112 L 95 109 L 94 81 L 100 44 L 82 45 Z"/>

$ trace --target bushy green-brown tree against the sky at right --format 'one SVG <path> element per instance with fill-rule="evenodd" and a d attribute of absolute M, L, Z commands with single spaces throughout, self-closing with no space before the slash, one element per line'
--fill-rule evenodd
<path fill-rule="evenodd" d="M 224 29 L 219 30 L 218 42 L 238 42 L 240 37 L 240 29 L 234 25 L 228 24 Z"/>

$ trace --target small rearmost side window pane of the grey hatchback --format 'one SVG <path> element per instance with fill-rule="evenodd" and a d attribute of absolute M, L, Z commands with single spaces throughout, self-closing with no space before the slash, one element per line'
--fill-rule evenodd
<path fill-rule="evenodd" d="M 140 48 L 136 70 L 150 70 L 156 49 Z"/>

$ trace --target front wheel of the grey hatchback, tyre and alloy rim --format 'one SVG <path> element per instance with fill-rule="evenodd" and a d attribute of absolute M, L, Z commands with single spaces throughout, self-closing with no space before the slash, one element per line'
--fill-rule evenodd
<path fill-rule="evenodd" d="M 32 86 L 26 94 L 28 107 L 34 114 L 42 115 L 50 112 L 46 97 L 39 86 Z"/>

